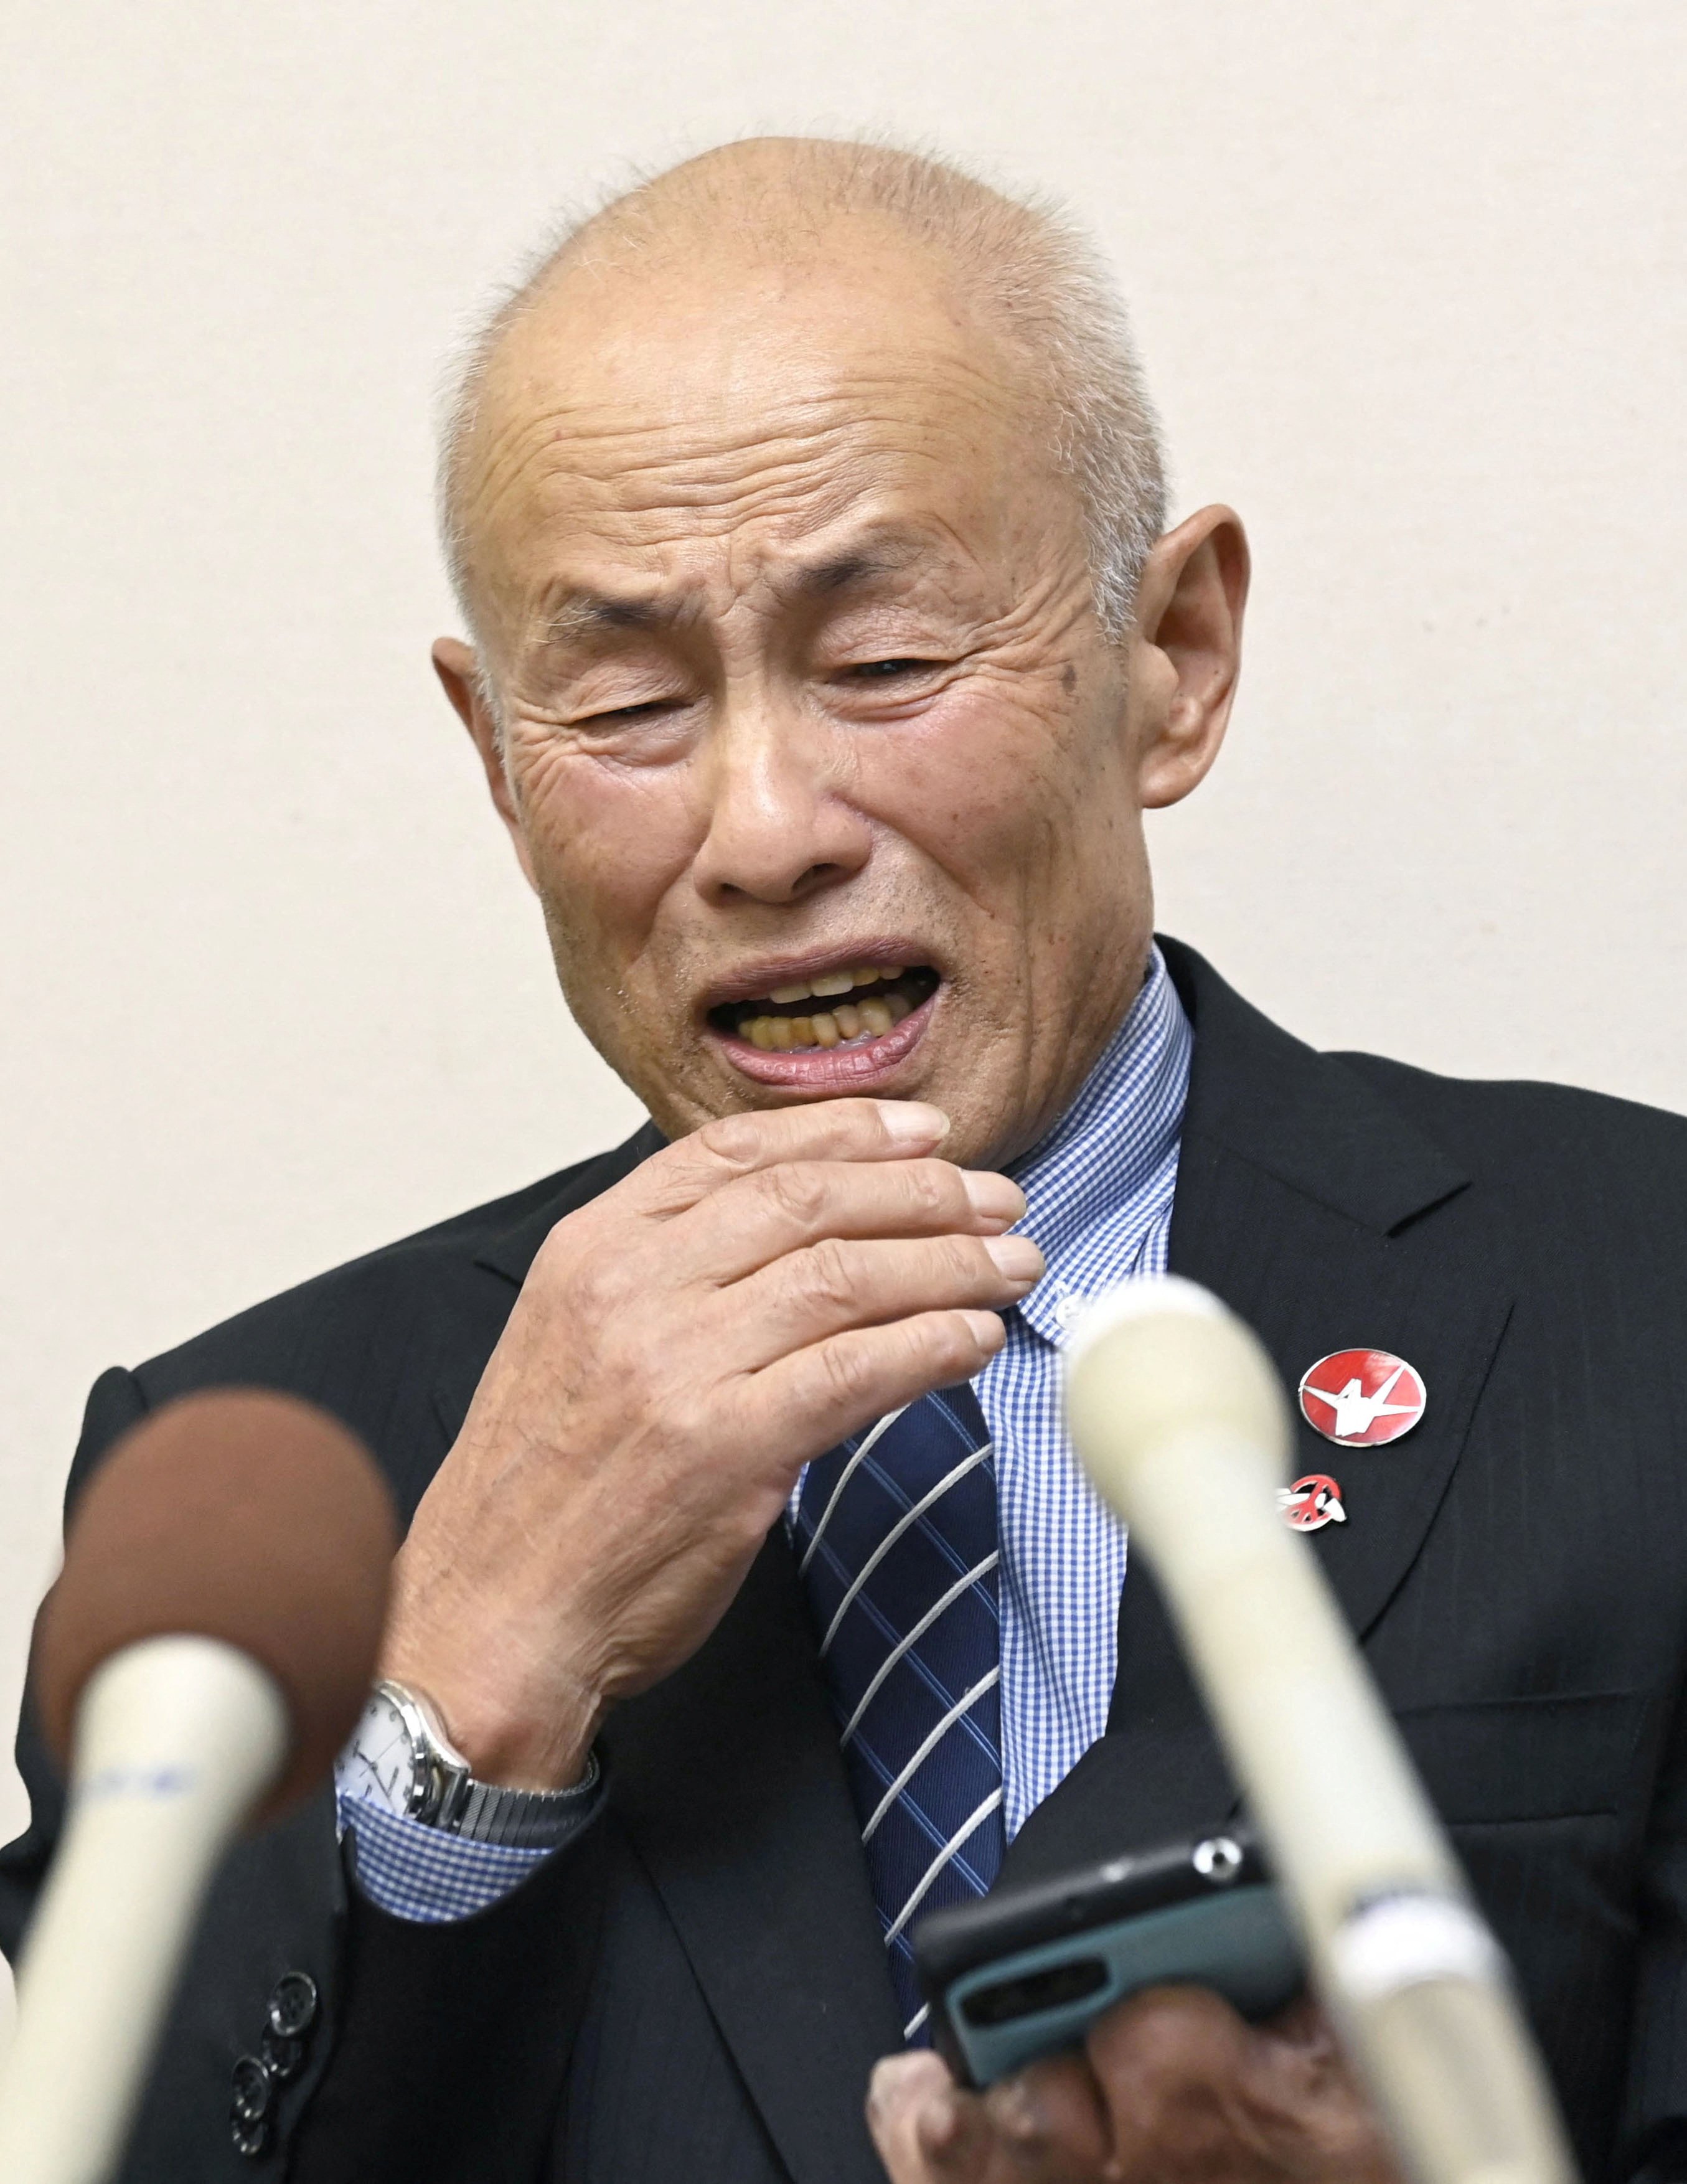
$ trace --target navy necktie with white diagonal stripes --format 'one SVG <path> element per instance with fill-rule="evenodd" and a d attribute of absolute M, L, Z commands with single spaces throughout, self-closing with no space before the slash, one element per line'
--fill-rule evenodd
<path fill-rule="evenodd" d="M 794 1540 L 912 2040 L 912 1922 L 1002 1865 L 995 1457 L 971 1387 L 810 1463 Z"/>

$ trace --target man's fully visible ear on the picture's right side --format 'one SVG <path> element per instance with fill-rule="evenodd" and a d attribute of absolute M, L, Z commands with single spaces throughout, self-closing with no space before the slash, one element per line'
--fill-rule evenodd
<path fill-rule="evenodd" d="M 1218 758 L 1242 670 L 1248 539 L 1233 509 L 1198 509 L 1144 563 L 1130 646 L 1144 810 L 1198 788 Z"/>

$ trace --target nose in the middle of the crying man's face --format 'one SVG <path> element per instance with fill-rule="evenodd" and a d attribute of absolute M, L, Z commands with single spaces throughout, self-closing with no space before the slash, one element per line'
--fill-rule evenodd
<path fill-rule="evenodd" d="M 849 880 L 873 850 L 849 797 L 838 734 L 770 695 L 727 703 L 709 736 L 707 834 L 692 865 L 698 893 L 727 902 L 803 902 Z"/>

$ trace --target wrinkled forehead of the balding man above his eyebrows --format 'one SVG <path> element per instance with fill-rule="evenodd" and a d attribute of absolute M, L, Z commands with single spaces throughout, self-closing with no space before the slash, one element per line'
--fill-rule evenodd
<path fill-rule="evenodd" d="M 458 511 L 480 605 L 519 620 L 572 555 L 672 577 L 851 520 L 980 553 L 1050 487 L 1026 376 L 952 269 L 853 236 L 561 277 L 491 358 Z"/>

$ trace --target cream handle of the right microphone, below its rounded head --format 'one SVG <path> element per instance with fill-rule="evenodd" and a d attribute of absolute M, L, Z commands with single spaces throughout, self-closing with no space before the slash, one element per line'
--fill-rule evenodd
<path fill-rule="evenodd" d="M 1255 1437 L 1189 1426 L 1139 1455 L 1117 1503 L 1299 1911 L 1314 1983 L 1419 2184 L 1574 2184 L 1499 1948 L 1272 1485 Z"/>

